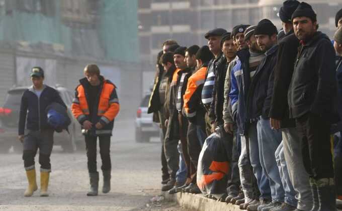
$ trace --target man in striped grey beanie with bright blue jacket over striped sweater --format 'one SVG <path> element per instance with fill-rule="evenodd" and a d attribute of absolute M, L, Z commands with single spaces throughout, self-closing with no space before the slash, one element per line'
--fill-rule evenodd
<path fill-rule="evenodd" d="M 247 96 L 252 95 L 250 86 L 254 82 L 254 75 L 258 66 L 265 58 L 251 33 L 253 27 L 247 28 L 245 43 L 248 48 L 236 52 L 236 64 L 231 71 L 231 100 L 232 117 L 236 122 L 238 134 L 240 135 L 241 154 L 238 160 L 238 168 L 241 172 L 240 181 L 244 193 L 244 202 L 240 209 L 248 209 L 253 204 L 268 204 L 271 202 L 270 182 L 263 172 L 258 147 L 257 122 L 258 118 L 249 118 L 250 108 L 247 107 Z M 257 159 L 258 158 L 258 159 Z M 252 163 L 251 161 L 255 161 Z M 253 172 L 254 171 L 254 172 Z M 252 188 L 250 188 L 252 187 Z M 255 190 L 260 191 L 260 194 Z M 240 200 L 231 199 L 232 203 L 240 203 Z M 257 206 L 258 208 L 258 206 Z M 255 210 L 255 207 L 254 209 Z"/>

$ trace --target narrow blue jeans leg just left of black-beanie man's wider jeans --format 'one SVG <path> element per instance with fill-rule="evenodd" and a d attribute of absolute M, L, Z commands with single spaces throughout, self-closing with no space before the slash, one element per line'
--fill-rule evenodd
<path fill-rule="evenodd" d="M 253 173 L 257 178 L 259 191 L 261 193 L 260 198 L 270 199 L 271 198 L 271 187 L 270 181 L 267 178 L 264 169 L 260 161 L 259 151 L 259 131 L 257 130 L 257 122 L 251 123 L 248 129 L 248 143 L 249 143 L 249 158 L 250 164 L 253 167 Z M 274 152 L 273 152 L 274 155 Z M 277 165 L 276 165 L 277 166 Z M 279 174 L 279 173 L 278 173 Z"/>

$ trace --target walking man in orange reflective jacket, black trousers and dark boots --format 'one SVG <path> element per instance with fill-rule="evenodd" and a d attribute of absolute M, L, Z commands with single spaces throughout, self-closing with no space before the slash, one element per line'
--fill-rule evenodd
<path fill-rule="evenodd" d="M 115 85 L 100 75 L 96 64 L 84 67 L 85 78 L 79 80 L 72 101 L 71 110 L 82 125 L 85 146 L 87 148 L 90 191 L 88 196 L 98 195 L 99 172 L 97 171 L 97 139 L 99 137 L 102 159 L 103 193 L 111 189 L 111 136 L 114 118 L 119 113 L 120 105 Z"/>

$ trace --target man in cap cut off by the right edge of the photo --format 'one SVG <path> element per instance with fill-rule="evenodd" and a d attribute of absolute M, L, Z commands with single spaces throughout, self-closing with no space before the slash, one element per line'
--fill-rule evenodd
<path fill-rule="evenodd" d="M 342 119 L 342 27 L 338 28 L 335 32 L 334 36 L 334 48 L 338 55 L 338 60 L 336 62 L 336 78 L 337 78 L 337 105 L 338 105 L 338 114 Z M 341 125 L 342 121 L 337 125 Z M 340 127 L 339 127 L 340 128 Z M 337 206 L 338 200 L 342 202 L 342 139 L 339 138 L 338 143 L 335 147 L 335 185 L 336 185 L 336 195 L 337 195 Z M 340 203 L 339 203 L 340 204 Z"/>

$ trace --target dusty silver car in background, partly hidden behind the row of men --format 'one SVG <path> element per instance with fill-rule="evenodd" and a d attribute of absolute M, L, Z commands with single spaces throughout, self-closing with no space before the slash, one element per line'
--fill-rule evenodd
<path fill-rule="evenodd" d="M 160 137 L 161 129 L 153 122 L 153 114 L 148 114 L 148 102 L 151 94 L 146 94 L 140 103 L 135 119 L 135 141 L 149 142 L 150 137 Z"/>

